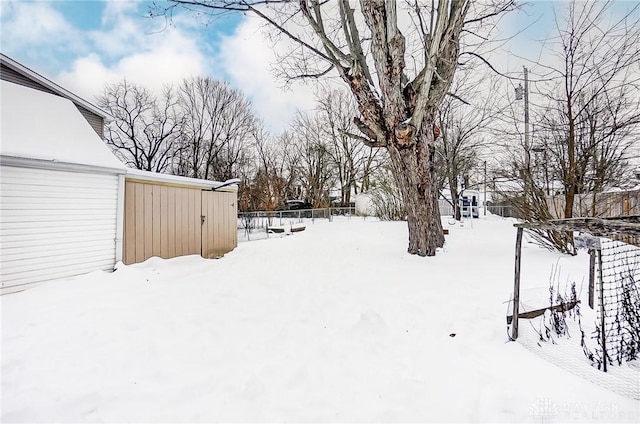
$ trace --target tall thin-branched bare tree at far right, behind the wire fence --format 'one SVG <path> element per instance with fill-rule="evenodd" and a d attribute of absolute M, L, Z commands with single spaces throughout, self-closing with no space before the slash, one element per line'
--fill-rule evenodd
<path fill-rule="evenodd" d="M 547 43 L 561 65 L 546 65 L 548 103 L 540 130 L 564 184 L 564 217 L 577 194 L 601 189 L 619 175 L 640 123 L 640 8 L 613 21 L 613 2 L 577 2 L 556 13 L 556 38 Z M 590 181 L 588 181 L 590 180 Z"/>

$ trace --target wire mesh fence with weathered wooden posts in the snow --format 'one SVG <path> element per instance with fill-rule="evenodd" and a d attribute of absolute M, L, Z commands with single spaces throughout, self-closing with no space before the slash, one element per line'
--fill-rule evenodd
<path fill-rule="evenodd" d="M 525 228 L 574 232 L 574 243 L 590 249 L 589 281 L 587 292 L 584 277 L 581 283 L 566 272 L 559 273 L 556 266 L 546 290 L 542 286 L 521 289 L 522 252 L 516 241 L 514 296 L 507 310 L 507 330 L 512 340 L 561 368 L 640 400 L 638 221 L 638 217 L 617 217 L 515 224 L 517 240 Z M 587 261 L 584 265 L 586 271 Z M 519 318 L 525 318 L 520 333 Z"/>

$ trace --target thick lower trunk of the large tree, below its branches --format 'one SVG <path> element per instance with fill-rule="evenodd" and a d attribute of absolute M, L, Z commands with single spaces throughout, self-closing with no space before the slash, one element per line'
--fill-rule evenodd
<path fill-rule="evenodd" d="M 424 125 L 424 127 L 428 127 Z M 407 212 L 409 247 L 414 255 L 434 256 L 444 246 L 438 190 L 435 185 L 433 133 L 422 131 L 415 143 L 399 147 L 389 143 L 389 154 L 394 174 Z"/>

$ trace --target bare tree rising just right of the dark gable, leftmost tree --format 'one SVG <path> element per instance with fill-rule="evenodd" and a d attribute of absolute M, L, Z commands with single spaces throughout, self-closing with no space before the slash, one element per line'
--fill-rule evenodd
<path fill-rule="evenodd" d="M 98 105 L 113 117 L 106 126 L 105 140 L 128 166 L 155 172 L 170 168 L 180 152 L 177 138 L 182 128 L 172 88 L 158 98 L 123 80 L 107 85 Z"/>

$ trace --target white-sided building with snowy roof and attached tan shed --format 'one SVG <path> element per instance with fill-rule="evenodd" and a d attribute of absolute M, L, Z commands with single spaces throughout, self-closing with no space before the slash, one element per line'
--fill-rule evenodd
<path fill-rule="evenodd" d="M 104 111 L 0 64 L 0 294 L 237 246 L 237 186 L 125 167 L 102 140 Z"/>

